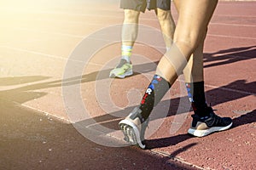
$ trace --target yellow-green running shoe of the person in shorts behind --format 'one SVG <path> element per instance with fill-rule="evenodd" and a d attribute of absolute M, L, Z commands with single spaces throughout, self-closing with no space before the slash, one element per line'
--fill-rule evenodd
<path fill-rule="evenodd" d="M 112 71 L 110 71 L 109 77 L 125 78 L 131 76 L 132 74 L 133 72 L 131 63 L 127 62 L 125 59 L 121 59 L 119 65 L 117 65 Z"/>

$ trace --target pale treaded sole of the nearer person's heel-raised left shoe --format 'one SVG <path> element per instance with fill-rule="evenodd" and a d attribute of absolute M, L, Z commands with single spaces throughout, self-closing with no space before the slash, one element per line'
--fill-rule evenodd
<path fill-rule="evenodd" d="M 119 128 L 124 133 L 126 142 L 136 144 L 141 149 L 146 148 L 146 145 L 141 141 L 140 132 L 133 122 L 124 119 L 119 122 Z"/>

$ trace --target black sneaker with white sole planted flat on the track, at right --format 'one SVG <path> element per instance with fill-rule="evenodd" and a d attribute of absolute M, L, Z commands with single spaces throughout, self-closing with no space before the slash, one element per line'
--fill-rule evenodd
<path fill-rule="evenodd" d="M 227 130 L 232 126 L 232 119 L 230 117 L 217 116 L 211 107 L 207 109 L 210 110 L 209 116 L 192 115 L 193 121 L 188 131 L 189 134 L 203 137 L 210 133 Z"/>

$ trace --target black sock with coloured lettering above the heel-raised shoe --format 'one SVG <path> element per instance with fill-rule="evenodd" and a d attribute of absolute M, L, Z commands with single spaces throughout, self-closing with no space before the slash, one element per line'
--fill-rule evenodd
<path fill-rule="evenodd" d="M 154 106 L 160 102 L 169 88 L 171 88 L 171 84 L 169 82 L 158 75 L 154 75 L 154 78 L 149 84 L 140 105 L 143 121 L 148 119 L 148 116 L 150 115 Z"/>

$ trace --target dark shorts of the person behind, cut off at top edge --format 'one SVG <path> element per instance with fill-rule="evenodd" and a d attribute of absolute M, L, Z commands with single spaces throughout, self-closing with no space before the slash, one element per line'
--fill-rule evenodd
<path fill-rule="evenodd" d="M 120 8 L 133 9 L 141 12 L 148 10 L 161 8 L 163 10 L 171 9 L 171 0 L 120 0 Z"/>

